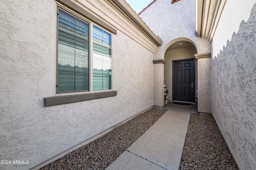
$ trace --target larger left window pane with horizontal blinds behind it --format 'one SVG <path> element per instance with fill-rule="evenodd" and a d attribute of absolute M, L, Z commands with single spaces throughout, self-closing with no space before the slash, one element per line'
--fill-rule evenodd
<path fill-rule="evenodd" d="M 58 92 L 89 90 L 89 24 L 59 9 Z"/>

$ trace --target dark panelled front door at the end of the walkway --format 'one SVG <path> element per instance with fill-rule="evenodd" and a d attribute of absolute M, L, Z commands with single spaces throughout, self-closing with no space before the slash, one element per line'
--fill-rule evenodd
<path fill-rule="evenodd" d="M 195 102 L 195 59 L 173 61 L 173 100 Z"/>

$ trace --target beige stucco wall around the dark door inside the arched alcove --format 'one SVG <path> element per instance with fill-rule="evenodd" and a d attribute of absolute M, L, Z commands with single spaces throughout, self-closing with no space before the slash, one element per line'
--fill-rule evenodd
<path fill-rule="evenodd" d="M 181 49 L 174 49 L 166 51 L 164 55 L 164 79 L 165 85 L 168 87 L 168 100 L 172 100 L 172 61 L 180 59 L 191 59 L 194 58 L 196 53 L 195 47 L 185 47 Z M 195 73 L 196 74 L 196 73 Z"/>

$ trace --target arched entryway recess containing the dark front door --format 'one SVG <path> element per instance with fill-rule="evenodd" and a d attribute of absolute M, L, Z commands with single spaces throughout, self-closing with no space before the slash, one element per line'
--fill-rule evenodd
<path fill-rule="evenodd" d="M 176 39 L 169 43 L 164 54 L 164 79 L 168 101 L 195 103 L 197 95 L 197 49 L 190 39 Z"/>

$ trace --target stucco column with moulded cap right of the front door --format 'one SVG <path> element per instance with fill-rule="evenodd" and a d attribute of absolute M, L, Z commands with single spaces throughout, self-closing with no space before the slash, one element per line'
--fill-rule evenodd
<path fill-rule="evenodd" d="M 212 113 L 211 53 L 195 55 L 198 66 L 198 112 Z"/>

